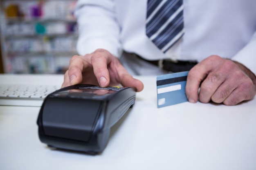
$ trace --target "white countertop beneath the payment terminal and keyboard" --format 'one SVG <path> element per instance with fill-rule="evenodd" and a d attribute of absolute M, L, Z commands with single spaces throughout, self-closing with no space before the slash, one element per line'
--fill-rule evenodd
<path fill-rule="evenodd" d="M 237 106 L 185 102 L 157 108 L 155 77 L 112 128 L 99 155 L 53 150 L 38 138 L 40 107 L 0 106 L 1 170 L 255 170 L 256 99 Z M 61 85 L 63 75 L 0 75 Z"/>

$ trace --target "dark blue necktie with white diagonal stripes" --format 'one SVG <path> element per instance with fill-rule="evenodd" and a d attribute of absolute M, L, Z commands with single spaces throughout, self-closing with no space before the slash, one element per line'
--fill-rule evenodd
<path fill-rule="evenodd" d="M 166 52 L 184 34 L 182 0 L 148 0 L 146 35 Z"/>

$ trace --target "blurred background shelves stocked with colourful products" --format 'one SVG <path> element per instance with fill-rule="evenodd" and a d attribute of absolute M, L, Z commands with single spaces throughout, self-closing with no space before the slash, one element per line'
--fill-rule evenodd
<path fill-rule="evenodd" d="M 4 73 L 64 73 L 76 55 L 75 4 L 76 0 L 1 0 Z"/>

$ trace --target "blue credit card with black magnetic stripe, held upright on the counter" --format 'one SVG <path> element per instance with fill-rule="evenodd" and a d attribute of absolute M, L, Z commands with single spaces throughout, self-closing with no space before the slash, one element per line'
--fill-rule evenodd
<path fill-rule="evenodd" d="M 188 71 L 157 76 L 157 108 L 187 102 L 185 93 Z"/>

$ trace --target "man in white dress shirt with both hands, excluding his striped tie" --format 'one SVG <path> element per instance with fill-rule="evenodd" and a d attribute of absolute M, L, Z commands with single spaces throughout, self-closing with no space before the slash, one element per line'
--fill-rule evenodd
<path fill-rule="evenodd" d="M 199 62 L 187 78 L 189 102 L 235 105 L 254 98 L 256 1 L 183 0 L 183 4 L 185 33 L 162 53 L 146 36 L 147 0 L 79 0 L 80 55 L 70 60 L 63 86 L 122 84 L 141 91 L 143 84 L 132 75 L 167 73 L 151 63 L 168 58 L 173 63 Z"/>

